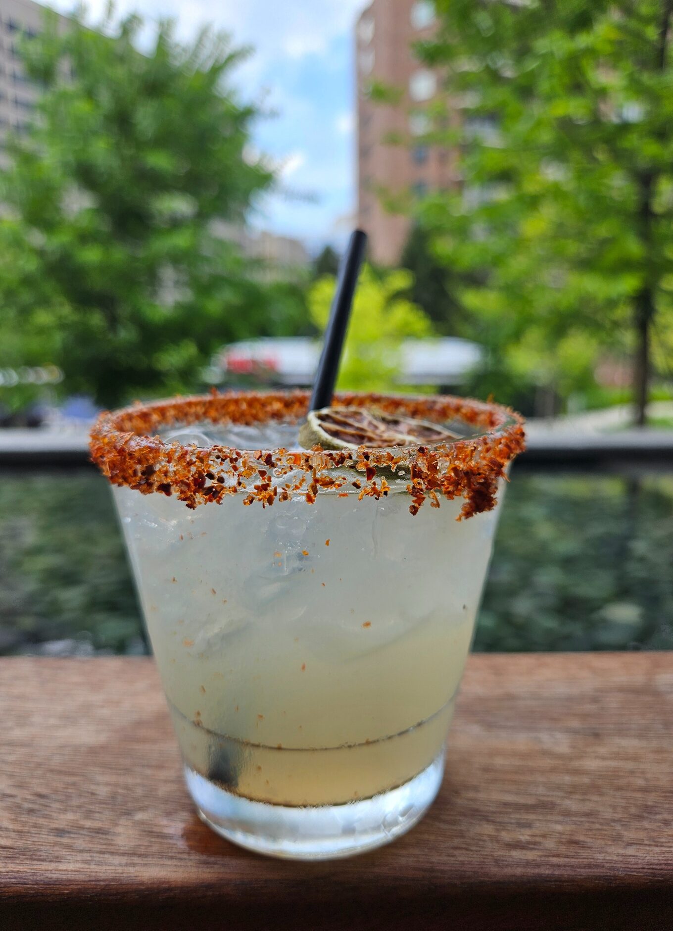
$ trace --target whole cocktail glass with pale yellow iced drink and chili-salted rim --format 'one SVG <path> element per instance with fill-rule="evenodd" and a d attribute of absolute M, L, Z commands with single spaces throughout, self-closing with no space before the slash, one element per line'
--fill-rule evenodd
<path fill-rule="evenodd" d="M 464 398 L 342 395 L 463 439 L 306 452 L 307 400 L 136 406 L 102 415 L 91 450 L 199 815 L 243 846 L 317 859 L 393 840 L 437 794 L 523 432 Z"/>

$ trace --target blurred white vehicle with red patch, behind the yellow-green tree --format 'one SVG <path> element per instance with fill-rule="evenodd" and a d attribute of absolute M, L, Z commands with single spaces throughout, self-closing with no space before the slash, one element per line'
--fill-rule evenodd
<path fill-rule="evenodd" d="M 406 340 L 398 381 L 402 385 L 461 385 L 482 352 L 477 343 L 455 336 Z M 216 384 L 254 376 L 274 385 L 311 385 L 319 358 L 320 344 L 308 336 L 245 340 L 224 346 L 208 375 Z"/>

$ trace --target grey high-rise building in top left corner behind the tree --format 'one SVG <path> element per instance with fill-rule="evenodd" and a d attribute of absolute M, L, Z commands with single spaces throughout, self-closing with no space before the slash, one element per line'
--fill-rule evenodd
<path fill-rule="evenodd" d="M 33 0 L 0 0 L 0 149 L 7 131 L 21 132 L 34 111 L 39 88 L 25 74 L 18 45 L 22 34 L 39 32 L 44 13 Z"/>

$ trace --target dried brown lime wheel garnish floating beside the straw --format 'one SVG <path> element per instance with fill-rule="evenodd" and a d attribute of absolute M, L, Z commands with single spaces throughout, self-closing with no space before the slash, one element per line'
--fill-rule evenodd
<path fill-rule="evenodd" d="M 451 443 L 460 439 L 451 430 L 412 417 L 400 417 L 358 407 L 328 407 L 310 411 L 299 431 L 303 449 L 372 450 L 418 443 Z"/>

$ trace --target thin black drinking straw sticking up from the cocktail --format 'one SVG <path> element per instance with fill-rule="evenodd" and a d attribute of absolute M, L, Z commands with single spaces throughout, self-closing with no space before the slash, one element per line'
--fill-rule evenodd
<path fill-rule="evenodd" d="M 309 411 L 329 407 L 334 393 L 339 364 L 342 358 L 343 340 L 351 315 L 353 296 L 356 292 L 357 276 L 365 255 L 367 234 L 355 230 L 348 241 L 348 248 L 339 266 L 339 278 L 330 307 L 330 320 L 325 331 L 325 343 L 317 365 L 316 378 Z"/>

